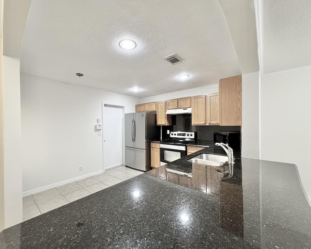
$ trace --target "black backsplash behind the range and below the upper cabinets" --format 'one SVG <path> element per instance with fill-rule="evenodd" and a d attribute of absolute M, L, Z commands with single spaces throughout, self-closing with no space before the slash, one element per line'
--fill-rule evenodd
<path fill-rule="evenodd" d="M 206 125 L 197 126 L 191 125 L 191 114 L 173 115 L 171 126 L 162 126 L 162 139 L 169 138 L 167 130 L 169 131 L 181 131 L 181 132 L 196 132 L 197 138 L 201 140 L 213 140 L 214 132 L 219 131 L 231 131 L 241 132 L 241 126 L 219 126 L 219 125 Z"/>

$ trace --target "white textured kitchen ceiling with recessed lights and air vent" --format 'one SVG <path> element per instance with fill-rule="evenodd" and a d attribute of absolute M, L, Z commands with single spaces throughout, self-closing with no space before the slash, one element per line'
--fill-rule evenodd
<path fill-rule="evenodd" d="M 122 50 L 122 39 L 137 48 Z M 185 61 L 162 59 L 175 52 Z M 218 0 L 32 0 L 20 66 L 22 73 L 140 98 L 241 73 Z"/>

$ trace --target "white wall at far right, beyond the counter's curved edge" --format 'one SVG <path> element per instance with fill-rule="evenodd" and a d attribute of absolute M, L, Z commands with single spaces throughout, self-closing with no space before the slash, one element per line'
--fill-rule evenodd
<path fill-rule="evenodd" d="M 261 78 L 260 159 L 297 165 L 308 196 L 311 196 L 310 79 L 311 67 Z"/>

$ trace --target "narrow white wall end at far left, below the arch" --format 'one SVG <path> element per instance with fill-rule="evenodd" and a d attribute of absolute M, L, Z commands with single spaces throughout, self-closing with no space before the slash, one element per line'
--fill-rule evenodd
<path fill-rule="evenodd" d="M 4 225 L 22 221 L 19 59 L 2 56 Z"/>

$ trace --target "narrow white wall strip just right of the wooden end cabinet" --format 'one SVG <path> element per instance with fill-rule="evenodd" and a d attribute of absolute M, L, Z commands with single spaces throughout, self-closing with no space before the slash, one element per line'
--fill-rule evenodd
<path fill-rule="evenodd" d="M 241 153 L 259 159 L 259 72 L 242 75 Z"/>

